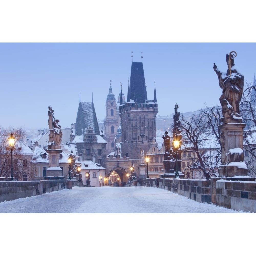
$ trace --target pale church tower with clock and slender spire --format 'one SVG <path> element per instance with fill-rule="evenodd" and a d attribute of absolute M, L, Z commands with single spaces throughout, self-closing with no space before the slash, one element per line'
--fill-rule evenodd
<path fill-rule="evenodd" d="M 115 136 L 120 125 L 119 113 L 117 111 L 115 95 L 112 92 L 111 82 L 110 80 L 109 94 L 106 100 L 106 118 L 104 121 L 104 139 L 108 142 L 106 145 L 107 155 L 115 152 Z"/>

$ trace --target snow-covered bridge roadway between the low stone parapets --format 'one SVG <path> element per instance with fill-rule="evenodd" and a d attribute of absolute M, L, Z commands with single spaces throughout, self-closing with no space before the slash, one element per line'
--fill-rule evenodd
<path fill-rule="evenodd" d="M 0 213 L 238 213 L 152 187 L 72 187 L 0 203 Z M 240 212 L 241 213 L 241 212 Z"/>

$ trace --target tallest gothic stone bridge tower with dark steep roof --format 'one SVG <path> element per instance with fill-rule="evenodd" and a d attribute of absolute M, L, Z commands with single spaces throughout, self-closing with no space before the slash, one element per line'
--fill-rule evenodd
<path fill-rule="evenodd" d="M 133 57 L 133 56 L 132 56 Z M 138 159 L 144 150 L 146 155 L 152 139 L 156 136 L 157 115 L 156 88 L 154 99 L 147 99 L 146 84 L 142 62 L 132 62 L 130 87 L 127 100 L 119 106 L 122 122 L 122 155 Z"/>

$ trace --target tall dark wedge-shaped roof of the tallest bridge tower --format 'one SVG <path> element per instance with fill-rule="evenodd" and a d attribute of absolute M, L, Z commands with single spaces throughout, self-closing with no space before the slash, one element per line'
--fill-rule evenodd
<path fill-rule="evenodd" d="M 146 84 L 142 62 L 132 62 L 129 100 L 134 100 L 134 102 L 139 103 L 145 103 L 147 100 Z"/>

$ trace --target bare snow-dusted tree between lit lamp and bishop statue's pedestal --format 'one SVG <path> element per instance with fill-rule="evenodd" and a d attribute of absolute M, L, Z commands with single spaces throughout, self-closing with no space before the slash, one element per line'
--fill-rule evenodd
<path fill-rule="evenodd" d="M 190 152 L 191 165 L 185 169 L 187 178 L 193 178 L 196 170 L 201 171 L 202 178 L 209 179 L 217 176 L 217 166 L 220 163 L 221 145 L 220 145 L 220 107 L 206 108 L 200 110 L 198 115 L 191 115 L 189 120 L 184 116 L 181 119 L 181 128 L 183 129 L 183 151 Z M 206 152 L 214 151 L 209 157 L 204 155 Z M 187 170 L 187 174 L 186 174 Z M 197 175 L 198 176 L 198 175 Z"/>

